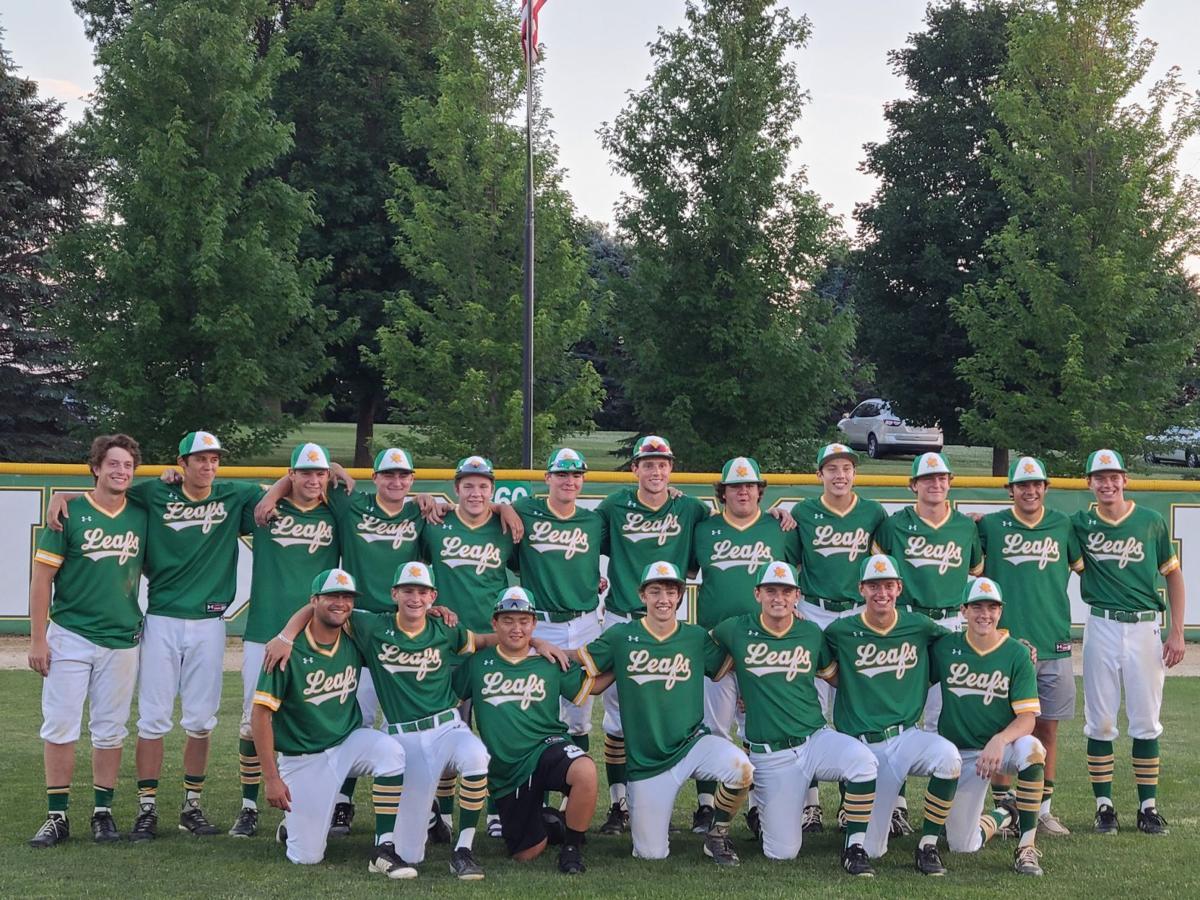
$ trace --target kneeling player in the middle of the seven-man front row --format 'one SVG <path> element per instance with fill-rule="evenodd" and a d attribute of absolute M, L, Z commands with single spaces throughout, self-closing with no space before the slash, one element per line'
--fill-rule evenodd
<path fill-rule="evenodd" d="M 715 674 L 725 653 L 700 625 L 679 622 L 684 576 L 674 563 L 646 566 L 638 596 L 646 614 L 606 629 L 575 653 L 593 677 L 612 672 L 620 692 L 629 754 L 629 809 L 634 856 L 665 859 L 671 811 L 689 779 L 719 782 L 716 812 L 704 856 L 738 865 L 730 822 L 754 778 L 746 755 L 704 727 L 703 673 Z M 568 804 L 570 810 L 570 804 Z"/>

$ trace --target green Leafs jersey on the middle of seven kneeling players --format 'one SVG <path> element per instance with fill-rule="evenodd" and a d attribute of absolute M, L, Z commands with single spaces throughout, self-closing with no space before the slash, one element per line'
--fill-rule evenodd
<path fill-rule="evenodd" d="M 704 676 L 716 674 L 726 654 L 700 625 L 680 622 L 655 637 L 644 618 L 632 619 L 578 653 L 588 674 L 616 677 L 631 781 L 666 772 L 708 733 Z"/>

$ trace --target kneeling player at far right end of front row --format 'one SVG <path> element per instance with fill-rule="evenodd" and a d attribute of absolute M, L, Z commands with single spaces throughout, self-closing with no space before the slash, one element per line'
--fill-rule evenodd
<path fill-rule="evenodd" d="M 962 757 L 946 839 L 952 851 L 973 853 L 1015 820 L 1020 839 L 1013 870 L 1042 875 L 1034 846 L 1045 761 L 1033 737 L 1038 679 L 1028 648 L 996 628 L 1001 612 L 1007 613 L 1000 586 L 977 578 L 962 592 L 966 629 L 934 644 L 932 677 L 942 691 L 938 733 Z M 984 816 L 988 784 L 997 772 L 1016 774 L 1015 802 Z"/>

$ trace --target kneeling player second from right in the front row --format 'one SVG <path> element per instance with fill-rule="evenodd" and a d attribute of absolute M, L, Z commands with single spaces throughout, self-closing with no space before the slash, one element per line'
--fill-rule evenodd
<path fill-rule="evenodd" d="M 929 775 L 916 864 L 922 875 L 944 875 L 937 838 L 954 802 L 961 758 L 950 742 L 917 722 L 930 684 L 929 648 L 947 631 L 928 616 L 898 610 L 902 590 L 896 560 L 869 557 L 859 576 L 866 604 L 857 616 L 824 630 L 830 661 L 817 674 L 838 688 L 834 726 L 858 738 L 878 761 L 864 839 L 868 856 L 875 859 L 888 851 L 892 810 L 904 780 Z M 848 820 L 848 805 L 846 811 Z"/>

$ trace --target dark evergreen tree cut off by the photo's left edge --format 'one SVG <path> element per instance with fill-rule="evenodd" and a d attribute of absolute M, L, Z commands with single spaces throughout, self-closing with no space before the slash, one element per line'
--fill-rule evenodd
<path fill-rule="evenodd" d="M 62 104 L 40 98 L 0 46 L 0 460 L 78 458 L 82 449 L 68 428 L 67 347 L 44 326 L 59 295 L 47 277 L 50 242 L 88 200 L 88 166 L 62 125 Z"/>

